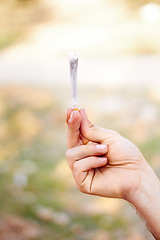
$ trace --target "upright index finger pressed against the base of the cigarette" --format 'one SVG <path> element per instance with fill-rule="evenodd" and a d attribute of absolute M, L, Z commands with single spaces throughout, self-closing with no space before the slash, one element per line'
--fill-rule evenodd
<path fill-rule="evenodd" d="M 81 144 L 80 140 L 80 124 L 81 115 L 77 110 L 68 109 L 67 110 L 67 147 L 73 148 Z"/>

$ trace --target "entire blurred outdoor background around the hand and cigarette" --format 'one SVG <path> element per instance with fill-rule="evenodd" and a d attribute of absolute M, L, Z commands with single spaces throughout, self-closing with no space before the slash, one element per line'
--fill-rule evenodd
<path fill-rule="evenodd" d="M 80 107 L 160 177 L 159 0 L 1 0 L 0 240 L 152 240 L 127 202 L 76 189 L 65 159 L 70 50 Z"/>

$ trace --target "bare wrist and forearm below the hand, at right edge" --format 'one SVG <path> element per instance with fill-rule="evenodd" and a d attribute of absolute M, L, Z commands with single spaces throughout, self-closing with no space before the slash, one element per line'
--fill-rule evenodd
<path fill-rule="evenodd" d="M 126 199 L 140 213 L 155 239 L 160 240 L 160 181 L 146 164 L 137 190 Z"/>

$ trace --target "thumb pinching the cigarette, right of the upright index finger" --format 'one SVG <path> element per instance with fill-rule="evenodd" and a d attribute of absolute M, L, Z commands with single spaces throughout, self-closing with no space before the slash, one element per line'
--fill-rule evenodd
<path fill-rule="evenodd" d="M 93 125 L 87 117 L 85 109 L 80 110 L 81 134 L 92 142 L 103 143 L 105 140 L 115 136 L 116 132 Z"/>

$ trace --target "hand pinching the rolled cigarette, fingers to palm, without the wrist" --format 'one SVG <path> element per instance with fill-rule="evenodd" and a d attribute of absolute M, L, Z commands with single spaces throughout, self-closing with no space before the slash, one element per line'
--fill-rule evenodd
<path fill-rule="evenodd" d="M 91 124 L 84 109 L 67 112 L 66 153 L 80 191 L 129 198 L 141 184 L 147 167 L 139 149 L 115 131 Z"/>

